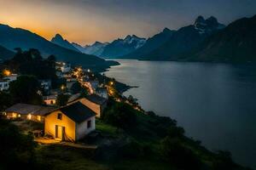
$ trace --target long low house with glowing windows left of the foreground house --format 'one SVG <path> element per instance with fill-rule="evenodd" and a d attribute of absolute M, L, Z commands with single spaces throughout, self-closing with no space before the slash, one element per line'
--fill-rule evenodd
<path fill-rule="evenodd" d="M 20 118 L 22 120 L 44 122 L 44 115 L 54 109 L 54 107 L 41 105 L 16 104 L 5 110 L 3 115 L 8 119 Z"/>

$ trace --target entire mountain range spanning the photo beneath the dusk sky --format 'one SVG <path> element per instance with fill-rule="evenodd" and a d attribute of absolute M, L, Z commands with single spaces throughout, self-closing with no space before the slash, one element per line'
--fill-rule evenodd
<path fill-rule="evenodd" d="M 51 42 L 31 31 L 0 25 L 0 58 L 14 48 L 38 48 L 44 55 L 79 65 L 111 65 L 108 59 L 177 60 L 206 62 L 255 62 L 256 15 L 224 26 L 211 16 L 197 17 L 194 24 L 177 31 L 165 28 L 148 39 L 128 35 L 113 42 L 81 46 L 56 34 Z M 96 55 L 96 56 L 95 56 Z M 113 64 L 113 63 L 112 63 Z"/>

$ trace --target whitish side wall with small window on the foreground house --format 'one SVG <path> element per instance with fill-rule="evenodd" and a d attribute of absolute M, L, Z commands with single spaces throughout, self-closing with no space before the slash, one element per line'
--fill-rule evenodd
<path fill-rule="evenodd" d="M 87 128 L 87 122 L 91 121 L 91 127 Z M 83 139 L 84 136 L 95 130 L 95 116 L 90 117 L 84 122 L 76 124 L 76 139 Z"/>

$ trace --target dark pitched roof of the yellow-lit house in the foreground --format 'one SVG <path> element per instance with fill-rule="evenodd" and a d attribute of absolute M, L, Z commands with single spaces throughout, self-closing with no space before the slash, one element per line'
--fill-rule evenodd
<path fill-rule="evenodd" d="M 66 116 L 71 118 L 74 122 L 84 122 L 86 119 L 96 116 L 94 111 L 91 111 L 88 107 L 81 102 L 73 103 L 59 109 Z"/>

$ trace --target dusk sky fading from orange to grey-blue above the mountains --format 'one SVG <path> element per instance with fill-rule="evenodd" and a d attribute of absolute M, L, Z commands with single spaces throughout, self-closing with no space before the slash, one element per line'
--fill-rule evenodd
<path fill-rule="evenodd" d="M 256 14 L 255 0 L 0 0 L 0 23 L 51 39 L 60 33 L 84 45 L 135 34 L 151 37 L 165 27 L 192 24 L 198 15 L 219 22 Z"/>

